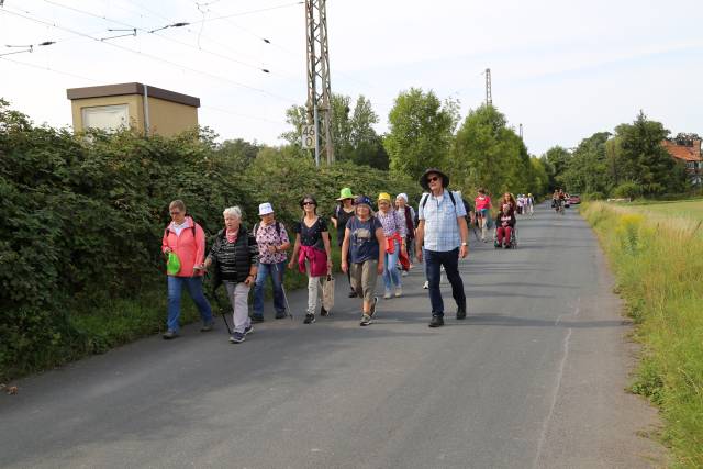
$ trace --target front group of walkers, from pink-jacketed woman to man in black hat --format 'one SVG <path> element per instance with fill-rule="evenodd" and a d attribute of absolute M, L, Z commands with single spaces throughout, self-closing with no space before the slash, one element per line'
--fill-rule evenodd
<path fill-rule="evenodd" d="M 459 192 L 447 189 L 449 178 L 436 168 L 427 169 L 420 179 L 425 189 L 417 213 L 409 205 L 408 196 L 393 200 L 381 192 L 373 211 L 369 197 L 355 196 L 344 188 L 338 205 L 330 216 L 337 231 L 341 247 L 341 268 L 349 281 L 349 297 L 361 300 L 361 326 L 372 323 L 378 297 L 377 276 L 382 276 L 384 299 L 401 297 L 402 273 L 412 268 L 412 260 L 425 264 L 432 319 L 429 327 L 444 325 L 445 305 L 439 289 L 444 270 L 457 304 L 456 319 L 467 315 L 467 300 L 458 261 L 468 255 L 467 209 Z M 490 198 L 488 208 L 490 209 Z M 394 202 L 394 203 L 393 203 Z M 478 206 L 478 205 L 477 205 Z M 323 281 L 332 275 L 330 226 L 317 213 L 312 196 L 300 200 L 302 216 L 291 228 L 291 243 L 283 223 L 276 220 L 270 203 L 259 205 L 259 219 L 252 230 L 242 223 L 237 206 L 223 212 L 224 227 L 205 253 L 202 227 L 187 215 L 186 205 L 175 200 L 169 205 L 171 222 L 164 233 L 161 250 L 168 257 L 168 321 L 165 339 L 179 334 L 181 290 L 185 287 L 193 299 L 201 319 L 202 332 L 213 327 L 213 315 L 202 290 L 207 271 L 213 276 L 214 287 L 224 286 L 233 309 L 232 343 L 242 343 L 254 331 L 253 323 L 264 321 L 264 288 L 268 278 L 274 289 L 276 317 L 289 313 L 283 290 L 286 267 L 298 268 L 308 277 L 308 309 L 304 324 L 315 322 L 317 313 L 326 316 L 322 300 Z M 481 216 L 488 211 L 481 210 Z M 292 255 L 288 252 L 292 245 Z M 254 288 L 253 313 L 248 312 L 248 294 Z"/>

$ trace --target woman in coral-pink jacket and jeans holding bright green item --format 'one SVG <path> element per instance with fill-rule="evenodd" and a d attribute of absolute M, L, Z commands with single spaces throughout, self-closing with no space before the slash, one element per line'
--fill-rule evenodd
<path fill-rule="evenodd" d="M 168 275 L 168 320 L 165 339 L 178 337 L 178 317 L 180 316 L 180 297 L 183 287 L 198 306 L 202 317 L 201 332 L 212 330 L 212 310 L 202 293 L 204 273 L 205 233 L 190 216 L 186 216 L 186 204 L 175 200 L 168 205 L 171 222 L 164 232 L 161 252 L 168 256 L 176 254 L 180 270 Z"/>

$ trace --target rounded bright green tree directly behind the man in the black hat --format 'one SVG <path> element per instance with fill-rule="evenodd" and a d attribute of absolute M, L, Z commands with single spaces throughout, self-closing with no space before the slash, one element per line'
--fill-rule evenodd
<path fill-rule="evenodd" d="M 458 102 L 439 101 L 433 91 L 411 88 L 395 98 L 383 138 L 391 171 L 419 178 L 428 167 L 442 167 L 459 120 Z"/>

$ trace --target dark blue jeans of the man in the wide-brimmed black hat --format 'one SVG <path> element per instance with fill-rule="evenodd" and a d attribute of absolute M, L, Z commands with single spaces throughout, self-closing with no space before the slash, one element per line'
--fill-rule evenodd
<path fill-rule="evenodd" d="M 451 295 L 457 302 L 457 306 L 466 309 L 466 294 L 464 293 L 464 282 L 459 276 L 459 248 L 451 250 L 429 250 L 425 249 L 425 269 L 427 281 L 429 282 L 429 302 L 432 303 L 432 315 L 444 316 L 444 301 L 442 290 L 439 290 L 440 267 L 447 275 L 451 283 Z"/>

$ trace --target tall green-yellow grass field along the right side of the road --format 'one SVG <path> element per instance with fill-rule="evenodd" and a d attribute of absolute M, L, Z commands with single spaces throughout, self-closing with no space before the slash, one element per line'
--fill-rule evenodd
<path fill-rule="evenodd" d="M 636 323 L 643 357 L 632 391 L 661 410 L 676 466 L 703 467 L 703 200 L 593 202 L 595 230 Z"/>

